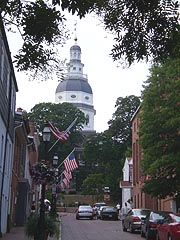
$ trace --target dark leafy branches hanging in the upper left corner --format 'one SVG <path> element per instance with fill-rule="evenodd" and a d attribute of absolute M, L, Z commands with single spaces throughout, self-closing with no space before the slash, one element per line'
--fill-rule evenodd
<path fill-rule="evenodd" d="M 19 71 L 58 71 L 59 59 L 54 47 L 68 37 L 65 17 L 47 1 L 1 1 L 2 21 L 8 30 L 21 34 L 22 47 L 14 56 Z M 16 29 L 16 28 L 17 29 Z"/>

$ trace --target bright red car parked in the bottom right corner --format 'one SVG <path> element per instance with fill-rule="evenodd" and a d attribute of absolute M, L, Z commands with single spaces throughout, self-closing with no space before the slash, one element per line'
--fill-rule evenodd
<path fill-rule="evenodd" d="M 169 213 L 157 226 L 158 240 L 180 239 L 180 215 Z"/>

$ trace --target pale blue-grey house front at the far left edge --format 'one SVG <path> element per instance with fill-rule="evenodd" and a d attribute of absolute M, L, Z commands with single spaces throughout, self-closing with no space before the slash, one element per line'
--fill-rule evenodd
<path fill-rule="evenodd" d="M 17 82 L 0 17 L 0 235 L 6 232 L 10 213 L 10 184 L 13 165 L 14 114 Z"/>

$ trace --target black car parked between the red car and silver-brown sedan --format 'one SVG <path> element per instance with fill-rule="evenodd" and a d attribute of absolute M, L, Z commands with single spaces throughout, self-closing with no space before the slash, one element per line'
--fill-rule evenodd
<path fill-rule="evenodd" d="M 169 214 L 168 211 L 151 211 L 141 220 L 141 237 L 146 240 L 157 239 L 157 225 Z M 168 239 L 167 239 L 168 240 Z"/>

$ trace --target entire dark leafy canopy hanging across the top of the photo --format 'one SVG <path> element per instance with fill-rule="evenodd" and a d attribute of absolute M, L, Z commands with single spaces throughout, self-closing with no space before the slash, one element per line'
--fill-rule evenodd
<path fill-rule="evenodd" d="M 24 43 L 15 56 L 21 71 L 58 71 L 54 46 L 67 37 L 64 11 L 80 18 L 94 12 L 115 35 L 114 60 L 163 60 L 178 56 L 179 2 L 175 0 L 1 0 L 2 20 L 16 25 Z M 61 59 L 62 60 L 62 59 Z M 48 70 L 49 69 L 49 70 Z"/>

